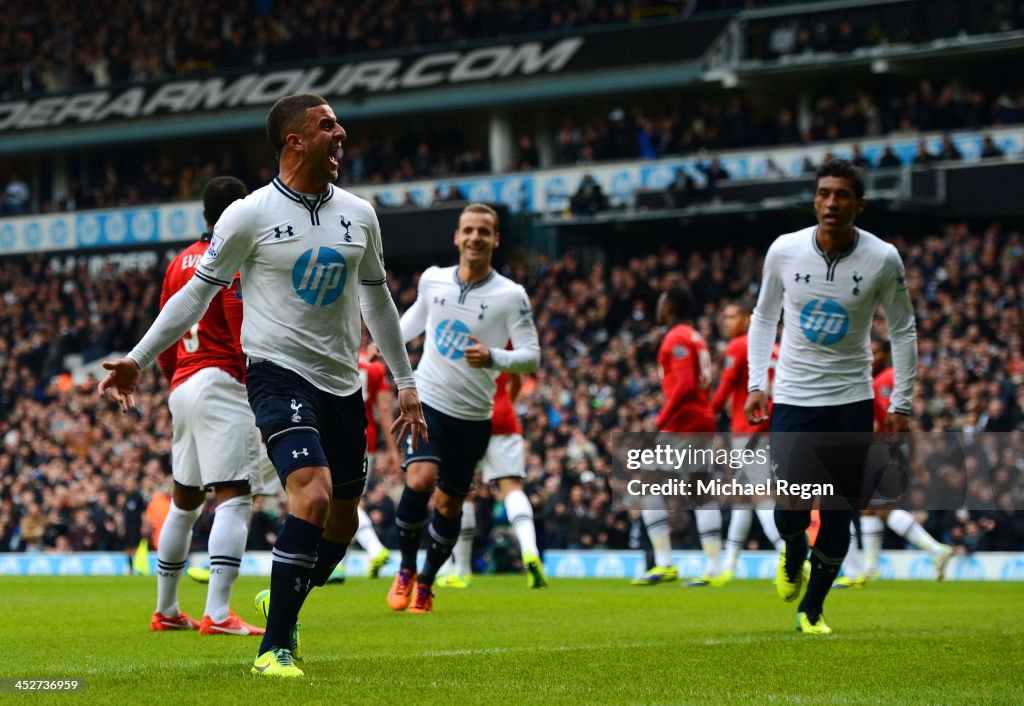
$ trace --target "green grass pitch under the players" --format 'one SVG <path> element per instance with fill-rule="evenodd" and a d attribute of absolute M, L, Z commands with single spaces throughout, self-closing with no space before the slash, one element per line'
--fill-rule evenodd
<path fill-rule="evenodd" d="M 234 589 L 243 618 L 266 579 Z M 1024 587 L 880 582 L 834 592 L 836 634 L 802 635 L 767 581 L 722 589 L 477 577 L 432 615 L 352 578 L 303 609 L 306 678 L 249 674 L 257 637 L 151 633 L 156 580 L 0 578 L 0 676 L 79 678 L 19 701 L 195 704 L 1024 703 Z M 181 605 L 202 616 L 205 587 Z M 0 696 L 0 700 L 9 695 Z M 15 697 L 16 698 L 16 697 Z"/>

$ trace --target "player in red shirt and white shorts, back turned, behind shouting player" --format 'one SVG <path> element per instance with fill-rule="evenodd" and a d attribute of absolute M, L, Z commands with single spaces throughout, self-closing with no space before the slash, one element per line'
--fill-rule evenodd
<path fill-rule="evenodd" d="M 218 176 L 203 191 L 207 234 L 168 265 L 160 305 L 196 274 L 210 247 L 213 225 L 232 202 L 246 196 L 239 179 Z M 217 293 L 207 313 L 175 345 L 158 358 L 171 385 L 173 419 L 171 508 L 157 548 L 157 610 L 150 629 L 199 629 L 205 635 L 263 634 L 230 611 L 252 517 L 252 492 L 259 488 L 259 431 L 245 386 L 245 359 L 239 336 L 242 300 L 239 279 Z M 210 585 L 201 623 L 178 607 L 178 583 L 202 513 L 207 489 L 217 501 L 210 530 Z"/>

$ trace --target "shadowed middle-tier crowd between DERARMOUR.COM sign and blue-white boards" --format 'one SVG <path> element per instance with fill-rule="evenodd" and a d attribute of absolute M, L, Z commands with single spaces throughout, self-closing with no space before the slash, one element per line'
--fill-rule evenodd
<path fill-rule="evenodd" d="M 812 119 L 801 124 L 796 98 L 774 114 L 757 114 L 740 94 L 693 101 L 686 108 L 634 105 L 607 114 L 570 111 L 551 134 L 551 164 L 542 164 L 535 138 L 518 136 L 509 169 L 541 166 L 592 165 L 610 160 L 647 160 L 684 155 L 708 155 L 721 150 L 797 147 L 837 140 L 878 138 L 893 132 L 979 130 L 1024 122 L 1024 90 L 986 90 L 956 81 L 895 82 L 873 89 L 823 92 Z M 961 159 L 952 143 L 939 153 L 923 150 L 915 163 Z M 241 178 L 250 188 L 270 180 L 271 162 L 253 168 L 228 147 L 205 153 L 190 147 L 187 155 L 153 152 L 106 155 L 90 160 L 75 174 L 67 191 L 39 204 L 40 210 L 79 211 L 114 206 L 136 206 L 169 201 L 194 201 L 216 174 Z M 983 157 L 997 157 L 997 146 L 986 142 Z M 712 158 L 709 156 L 710 161 Z M 861 166 L 898 166 L 895 153 L 878 163 Z M 346 183 L 388 183 L 414 179 L 482 174 L 490 157 L 480 146 L 469 144 L 453 131 L 376 136 L 356 131 L 344 144 L 342 173 Z M 4 175 L 0 174 L 0 178 Z M 30 210 L 28 184 L 15 172 L 6 174 L 3 212 Z"/>

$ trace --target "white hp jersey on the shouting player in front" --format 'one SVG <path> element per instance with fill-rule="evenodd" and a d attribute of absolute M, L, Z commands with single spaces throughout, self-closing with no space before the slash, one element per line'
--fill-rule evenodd
<path fill-rule="evenodd" d="M 299 194 L 274 178 L 227 207 L 196 268 L 227 286 L 242 274 L 242 349 L 316 387 L 359 390 L 359 285 L 385 281 L 380 224 L 334 185 Z"/>

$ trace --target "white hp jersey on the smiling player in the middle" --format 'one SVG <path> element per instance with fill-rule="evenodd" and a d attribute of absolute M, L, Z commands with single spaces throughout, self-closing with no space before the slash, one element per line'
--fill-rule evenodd
<path fill-rule="evenodd" d="M 490 419 L 499 373 L 530 372 L 541 360 L 526 290 L 496 272 L 468 284 L 458 266 L 427 268 L 416 302 L 401 317 L 401 332 L 407 341 L 426 333 L 416 369 L 420 399 L 458 419 Z M 490 368 L 466 363 L 470 336 L 490 348 Z M 512 350 L 505 350 L 510 339 Z"/>

